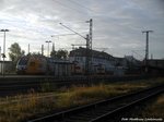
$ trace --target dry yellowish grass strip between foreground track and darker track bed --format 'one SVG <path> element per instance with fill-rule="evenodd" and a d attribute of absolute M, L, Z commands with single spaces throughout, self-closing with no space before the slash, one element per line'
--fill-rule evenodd
<path fill-rule="evenodd" d="M 61 110 L 164 83 L 164 78 L 62 87 L 51 93 L 35 93 L 0 98 L 0 122 L 17 122 L 51 110 Z M 44 85 L 43 85 L 44 86 Z M 48 90 L 49 84 L 45 85 Z M 43 87 L 44 89 L 44 87 Z M 50 89 L 51 90 L 51 89 Z"/>

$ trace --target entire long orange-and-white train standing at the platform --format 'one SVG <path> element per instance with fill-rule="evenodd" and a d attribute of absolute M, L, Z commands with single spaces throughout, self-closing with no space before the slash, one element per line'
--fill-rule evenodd
<path fill-rule="evenodd" d="M 124 75 L 124 70 L 98 63 L 92 65 L 93 75 Z M 85 75 L 85 65 L 78 61 L 52 59 L 44 56 L 24 56 L 16 64 L 17 74 L 47 74 L 54 76 Z"/>

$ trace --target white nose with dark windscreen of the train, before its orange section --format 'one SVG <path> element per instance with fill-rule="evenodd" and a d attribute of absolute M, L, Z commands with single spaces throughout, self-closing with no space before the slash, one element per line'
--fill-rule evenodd
<path fill-rule="evenodd" d="M 16 74 L 25 74 L 27 70 L 28 57 L 22 57 L 16 64 Z"/>

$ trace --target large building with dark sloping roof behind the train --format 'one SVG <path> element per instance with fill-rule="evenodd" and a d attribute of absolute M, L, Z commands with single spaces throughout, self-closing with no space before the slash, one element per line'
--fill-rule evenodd
<path fill-rule="evenodd" d="M 104 52 L 96 50 L 87 50 L 86 48 L 79 48 L 70 51 L 69 60 L 75 62 L 79 68 L 82 68 L 82 71 L 85 72 L 86 68 L 86 56 L 91 53 L 91 68 L 90 72 L 92 73 L 108 73 L 108 74 L 124 74 L 121 68 L 116 65 L 116 58 Z"/>

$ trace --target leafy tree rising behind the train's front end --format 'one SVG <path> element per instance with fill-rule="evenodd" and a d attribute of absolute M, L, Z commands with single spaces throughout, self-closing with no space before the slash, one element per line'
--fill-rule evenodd
<path fill-rule="evenodd" d="M 25 53 L 24 50 L 21 50 L 21 47 L 17 42 L 12 44 L 9 50 L 9 57 L 14 64 L 16 64 L 17 60 Z"/>

